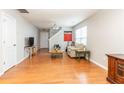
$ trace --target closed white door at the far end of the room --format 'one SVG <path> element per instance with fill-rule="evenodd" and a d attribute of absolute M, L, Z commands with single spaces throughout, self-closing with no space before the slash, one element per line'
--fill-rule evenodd
<path fill-rule="evenodd" d="M 40 48 L 48 48 L 48 31 L 40 32 Z"/>

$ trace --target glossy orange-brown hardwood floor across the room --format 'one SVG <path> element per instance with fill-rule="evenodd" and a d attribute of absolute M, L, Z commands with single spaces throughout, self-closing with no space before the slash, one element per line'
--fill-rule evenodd
<path fill-rule="evenodd" d="M 63 58 L 51 59 L 42 49 L 31 60 L 9 69 L 0 77 L 0 83 L 13 84 L 108 84 L 106 71 L 81 59 L 80 62 L 64 54 Z"/>

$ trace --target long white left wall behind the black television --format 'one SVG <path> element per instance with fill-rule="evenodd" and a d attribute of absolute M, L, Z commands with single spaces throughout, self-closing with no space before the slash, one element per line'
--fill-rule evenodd
<path fill-rule="evenodd" d="M 34 37 L 35 45 L 39 46 L 39 34 L 38 29 L 25 20 L 22 16 L 17 14 L 13 10 L 0 10 L 0 12 L 6 12 L 7 14 L 13 16 L 16 19 L 16 33 L 17 33 L 17 62 L 20 62 L 23 58 L 27 56 L 24 51 L 25 37 Z M 12 34 L 12 33 L 10 33 Z M 1 40 L 0 40 L 1 41 Z M 0 46 L 1 47 L 1 46 Z"/>

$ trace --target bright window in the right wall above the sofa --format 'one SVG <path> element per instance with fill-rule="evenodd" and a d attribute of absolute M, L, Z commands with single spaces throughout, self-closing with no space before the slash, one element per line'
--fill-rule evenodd
<path fill-rule="evenodd" d="M 87 44 L 87 26 L 76 30 L 76 43 Z"/>

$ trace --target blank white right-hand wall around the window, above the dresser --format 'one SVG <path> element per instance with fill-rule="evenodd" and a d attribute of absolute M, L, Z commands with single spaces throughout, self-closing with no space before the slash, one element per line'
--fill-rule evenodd
<path fill-rule="evenodd" d="M 106 68 L 105 54 L 124 54 L 124 10 L 100 10 L 74 30 L 85 25 L 88 27 L 87 48 L 92 60 Z"/>

